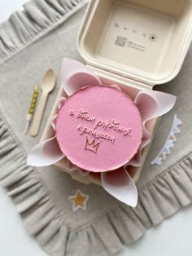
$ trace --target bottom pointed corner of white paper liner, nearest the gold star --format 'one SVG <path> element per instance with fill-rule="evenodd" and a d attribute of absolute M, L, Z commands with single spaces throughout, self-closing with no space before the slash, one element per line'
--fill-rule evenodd
<path fill-rule="evenodd" d="M 124 167 L 102 173 L 101 182 L 103 188 L 110 193 L 111 196 L 115 196 L 126 205 L 136 207 L 138 197 L 137 188 Z"/>

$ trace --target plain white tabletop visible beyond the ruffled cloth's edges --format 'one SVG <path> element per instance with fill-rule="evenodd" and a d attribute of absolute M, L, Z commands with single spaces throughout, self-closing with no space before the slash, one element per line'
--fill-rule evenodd
<path fill-rule="evenodd" d="M 24 2 L 26 0 L 0 0 L 0 22 L 12 11 L 20 9 Z M 158 227 L 151 228 L 118 256 L 191 256 L 191 237 L 192 207 L 189 206 Z M 0 187 L 0 256 L 46 255 L 33 237 L 28 236 L 15 206 Z"/>

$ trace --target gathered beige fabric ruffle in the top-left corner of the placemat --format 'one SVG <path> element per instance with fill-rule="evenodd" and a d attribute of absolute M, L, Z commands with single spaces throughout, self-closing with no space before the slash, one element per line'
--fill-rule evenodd
<path fill-rule="evenodd" d="M 0 24 L 0 61 L 39 38 L 85 5 L 86 0 L 30 0 Z"/>

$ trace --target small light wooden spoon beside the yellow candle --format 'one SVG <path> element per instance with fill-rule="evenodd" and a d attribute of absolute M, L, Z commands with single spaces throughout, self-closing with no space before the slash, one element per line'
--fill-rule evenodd
<path fill-rule="evenodd" d="M 54 90 L 55 88 L 55 82 L 56 77 L 55 73 L 52 69 L 49 69 L 45 76 L 42 78 L 41 82 L 41 96 L 39 99 L 39 102 L 37 104 L 37 109 L 33 117 L 32 126 L 30 129 L 30 135 L 31 136 L 37 136 L 40 125 L 41 125 L 41 119 L 42 115 L 44 113 L 45 107 L 46 107 L 46 100 L 49 95 L 49 93 Z"/>

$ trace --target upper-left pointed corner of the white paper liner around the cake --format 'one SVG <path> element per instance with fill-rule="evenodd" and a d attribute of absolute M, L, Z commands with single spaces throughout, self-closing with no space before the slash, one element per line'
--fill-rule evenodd
<path fill-rule="evenodd" d="M 76 60 L 64 59 L 61 67 L 61 82 L 68 96 L 85 86 L 98 86 L 102 82 L 92 70 Z"/>

